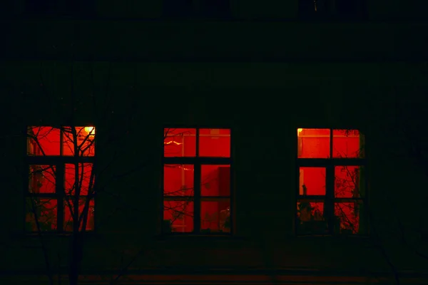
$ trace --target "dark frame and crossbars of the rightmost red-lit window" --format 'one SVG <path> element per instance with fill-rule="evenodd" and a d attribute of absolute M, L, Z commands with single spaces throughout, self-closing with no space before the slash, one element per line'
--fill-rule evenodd
<path fill-rule="evenodd" d="M 295 207 L 295 222 L 294 222 L 294 232 L 295 235 L 299 237 L 317 237 L 317 236 L 335 236 L 335 203 L 337 202 L 360 202 L 362 207 L 367 207 L 367 197 L 368 197 L 368 181 L 367 181 L 367 151 L 366 151 L 366 138 L 365 134 L 359 129 L 348 128 L 348 129 L 339 129 L 339 128 L 302 128 L 305 129 L 314 129 L 314 130 L 330 130 L 330 142 L 329 142 L 329 156 L 325 158 L 302 158 L 300 155 L 300 139 L 298 135 L 298 130 L 296 132 L 297 139 L 297 150 L 296 150 L 296 187 L 295 187 L 295 197 L 296 204 L 299 201 L 305 202 L 323 202 L 325 203 L 325 209 L 323 216 L 327 222 L 327 234 L 301 234 L 299 233 L 297 227 L 298 221 L 298 210 Z M 363 135 L 364 145 L 360 145 L 360 150 L 362 150 L 362 157 L 334 157 L 333 156 L 333 140 L 334 130 L 358 130 L 360 135 Z M 337 166 L 350 166 L 350 167 L 364 167 L 364 195 L 360 197 L 335 197 L 335 167 Z M 300 195 L 300 167 L 323 167 L 325 168 L 325 195 Z M 360 219 L 361 220 L 361 219 Z M 367 214 L 364 214 L 362 220 L 365 224 L 368 222 Z M 365 229 L 364 234 L 350 234 L 352 237 L 364 237 L 369 233 L 369 229 Z"/>

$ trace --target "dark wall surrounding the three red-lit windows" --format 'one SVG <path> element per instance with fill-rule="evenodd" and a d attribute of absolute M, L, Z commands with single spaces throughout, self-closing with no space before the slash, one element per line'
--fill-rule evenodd
<path fill-rule="evenodd" d="M 21 137 L 16 130 L 22 125 L 65 121 L 71 86 L 79 123 L 96 125 L 100 141 L 106 142 L 98 145 L 101 163 L 108 165 L 106 175 L 99 179 L 120 199 L 106 193 L 97 197 L 99 224 L 88 240 L 88 266 L 115 266 L 119 252 L 131 254 L 146 247 L 150 249 L 147 258 L 138 259 L 141 266 L 256 266 L 273 260 L 276 266 L 384 268 L 384 260 L 366 239 L 294 236 L 296 128 L 362 129 L 370 147 L 370 203 L 376 227 L 385 237 L 389 232 L 396 233 L 397 224 L 391 218 L 394 211 L 403 213 L 410 224 L 416 221 L 409 209 L 414 209 L 417 199 L 403 193 L 414 190 L 414 195 L 420 195 L 416 189 L 424 185 L 426 177 L 408 156 L 397 157 L 405 154 L 406 145 L 402 145 L 395 118 L 397 98 L 403 106 L 407 103 L 404 114 L 412 113 L 415 102 L 421 103 L 417 98 L 426 90 L 422 66 L 76 63 L 71 77 L 67 63 L 13 62 L 2 76 L 2 91 L 11 98 L 7 135 L 12 139 L 2 142 L 7 150 L 6 165 L 21 170 L 16 159 L 22 157 Z M 156 239 L 165 124 L 224 125 L 233 129 L 235 239 Z M 108 159 L 116 150 L 118 158 L 110 165 Z M 141 170 L 121 180 L 109 180 L 127 167 Z M 7 201 L 21 201 L 21 185 L 16 176 L 9 176 L 9 171 L 4 166 L 11 189 Z M 7 219 L 9 231 L 2 238 L 12 244 L 4 268 L 34 267 L 41 252 L 23 247 L 31 242 L 19 234 L 21 207 L 3 201 L 2 215 L 11 219 Z M 397 202 L 398 207 L 390 201 Z M 423 204 L 418 205 L 423 208 Z M 51 247 L 58 247 L 58 243 L 66 241 L 52 239 Z M 61 251 L 66 254 L 66 247 Z M 25 262 L 19 252 L 26 254 Z M 106 254 L 106 258 L 99 259 L 98 254 Z M 398 264 L 400 260 L 394 259 Z M 405 261 L 402 266 L 418 266 L 417 259 L 412 259 L 412 265 L 409 259 Z"/>

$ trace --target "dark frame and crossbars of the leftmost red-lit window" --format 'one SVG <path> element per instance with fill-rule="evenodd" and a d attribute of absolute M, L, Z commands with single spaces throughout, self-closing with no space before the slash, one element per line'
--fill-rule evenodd
<path fill-rule="evenodd" d="M 25 161 L 24 161 L 24 172 L 23 180 L 26 183 L 23 185 L 24 190 L 24 232 L 26 234 L 71 234 L 71 231 L 65 230 L 65 221 L 64 221 L 64 212 L 65 212 L 65 199 L 66 196 L 74 197 L 74 195 L 66 195 L 65 193 L 65 175 L 66 175 L 66 165 L 80 165 L 80 164 L 91 164 L 92 167 L 95 164 L 96 152 L 92 156 L 83 156 L 78 153 L 75 155 L 63 155 L 63 138 L 64 138 L 64 128 L 85 128 L 92 127 L 96 129 L 95 125 L 82 124 L 78 126 L 53 126 L 53 125 L 26 125 L 24 132 L 24 151 L 25 151 Z M 29 128 L 55 128 L 59 130 L 60 141 L 58 142 L 60 147 L 59 155 L 30 155 L 29 154 Z M 93 142 L 94 150 L 96 149 L 96 140 Z M 29 191 L 29 183 L 31 177 L 29 175 L 29 168 L 31 165 L 49 165 L 55 168 L 56 180 L 55 180 L 55 192 L 54 193 L 34 193 Z M 93 171 L 93 170 L 92 170 Z M 93 180 L 95 183 L 95 179 Z M 88 195 L 79 195 L 79 199 L 88 197 Z M 56 229 L 46 230 L 46 231 L 29 231 L 26 229 L 26 214 L 27 214 L 27 199 L 53 199 L 56 201 Z M 93 200 L 93 229 L 85 229 L 84 232 L 95 232 L 96 231 L 96 219 L 95 219 L 95 209 L 96 209 L 96 192 L 91 195 Z"/>

